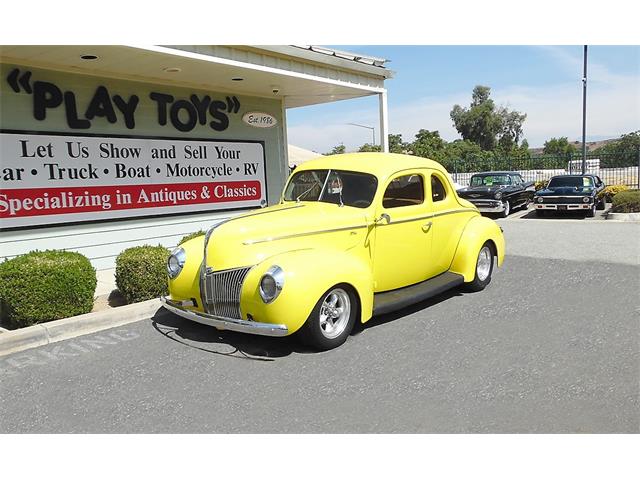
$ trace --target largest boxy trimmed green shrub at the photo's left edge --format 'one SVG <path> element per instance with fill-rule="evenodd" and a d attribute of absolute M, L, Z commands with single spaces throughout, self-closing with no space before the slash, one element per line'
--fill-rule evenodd
<path fill-rule="evenodd" d="M 96 271 L 84 255 L 29 252 L 0 264 L 0 318 L 13 328 L 88 313 Z"/>

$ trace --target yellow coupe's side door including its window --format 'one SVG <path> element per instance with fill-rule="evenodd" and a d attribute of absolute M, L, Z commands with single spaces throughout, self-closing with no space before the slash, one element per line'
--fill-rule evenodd
<path fill-rule="evenodd" d="M 384 185 L 382 198 L 376 200 L 376 218 L 384 219 L 375 226 L 375 292 L 413 285 L 429 275 L 432 222 L 425 201 L 426 179 L 425 171 L 397 173 Z"/>

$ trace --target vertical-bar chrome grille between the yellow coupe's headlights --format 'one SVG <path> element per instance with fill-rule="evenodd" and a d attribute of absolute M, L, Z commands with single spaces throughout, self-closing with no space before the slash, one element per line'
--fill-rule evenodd
<path fill-rule="evenodd" d="M 207 272 L 205 276 L 206 309 L 213 315 L 241 319 L 240 290 L 251 267 Z"/>

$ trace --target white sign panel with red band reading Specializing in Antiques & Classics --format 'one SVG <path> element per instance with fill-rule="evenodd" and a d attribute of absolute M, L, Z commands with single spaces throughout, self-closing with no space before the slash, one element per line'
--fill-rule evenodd
<path fill-rule="evenodd" d="M 262 142 L 0 133 L 0 228 L 266 203 Z"/>

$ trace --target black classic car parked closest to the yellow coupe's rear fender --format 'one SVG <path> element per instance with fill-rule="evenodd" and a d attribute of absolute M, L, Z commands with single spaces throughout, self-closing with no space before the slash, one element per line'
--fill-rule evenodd
<path fill-rule="evenodd" d="M 515 208 L 527 208 L 533 200 L 533 182 L 525 182 L 515 172 L 484 172 L 471 177 L 458 196 L 473 203 L 483 213 L 506 217 Z"/>

